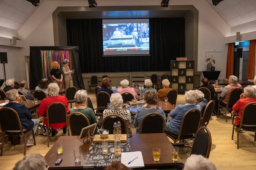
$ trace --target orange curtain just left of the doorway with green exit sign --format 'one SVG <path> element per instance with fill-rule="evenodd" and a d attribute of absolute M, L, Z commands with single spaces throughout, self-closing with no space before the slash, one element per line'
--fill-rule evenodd
<path fill-rule="evenodd" d="M 227 51 L 227 64 L 226 64 L 226 78 L 228 79 L 230 75 L 233 75 L 234 70 L 234 43 L 228 44 Z"/>

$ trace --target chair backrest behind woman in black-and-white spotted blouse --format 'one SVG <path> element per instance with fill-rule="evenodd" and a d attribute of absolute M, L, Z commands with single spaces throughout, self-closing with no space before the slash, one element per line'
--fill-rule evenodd
<path fill-rule="evenodd" d="M 118 115 L 108 115 L 102 120 L 102 127 L 101 129 L 106 129 L 109 131 L 109 134 L 113 134 L 114 131 L 114 123 L 120 122 L 121 123 L 121 133 L 127 134 L 126 131 L 126 123 L 125 120 Z"/>

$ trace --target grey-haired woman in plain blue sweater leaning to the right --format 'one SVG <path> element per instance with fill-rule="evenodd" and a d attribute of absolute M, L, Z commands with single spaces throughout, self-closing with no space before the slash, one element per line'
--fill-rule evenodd
<path fill-rule="evenodd" d="M 168 131 L 175 136 L 178 136 L 181 120 L 185 113 L 188 112 L 190 109 L 198 109 L 195 105 L 197 100 L 197 94 L 194 90 L 186 91 L 185 99 L 187 102 L 185 105 L 180 104 L 170 112 L 169 116 L 172 119 L 167 123 L 165 127 L 165 131 Z"/>

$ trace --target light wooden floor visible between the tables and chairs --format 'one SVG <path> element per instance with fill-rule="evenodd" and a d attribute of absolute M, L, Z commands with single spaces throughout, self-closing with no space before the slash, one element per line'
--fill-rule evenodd
<path fill-rule="evenodd" d="M 93 104 L 96 104 L 95 95 L 89 95 Z M 177 105 L 185 104 L 184 95 L 178 95 Z M 95 105 L 96 107 L 96 105 Z M 228 122 L 222 117 L 210 121 L 208 128 L 212 136 L 212 147 L 209 159 L 216 165 L 218 170 L 246 170 L 256 169 L 256 142 L 254 142 L 254 132 L 242 131 L 240 133 L 240 149 L 237 149 L 236 134 L 231 140 L 232 125 L 230 114 Z M 170 119 L 170 118 L 169 118 Z M 131 128 L 135 133 L 135 128 Z M 67 135 L 67 134 L 66 134 Z M 47 137 L 36 135 L 36 146 L 27 147 L 27 154 L 39 153 L 45 155 L 52 147 L 59 136 L 63 136 L 62 130 L 58 135 L 50 137 L 50 147 L 47 147 Z M 183 163 L 186 162 L 188 155 L 180 155 Z M 3 156 L 0 156 L 0 169 L 11 170 L 15 163 L 23 158 L 23 145 L 12 146 L 4 144 Z"/>

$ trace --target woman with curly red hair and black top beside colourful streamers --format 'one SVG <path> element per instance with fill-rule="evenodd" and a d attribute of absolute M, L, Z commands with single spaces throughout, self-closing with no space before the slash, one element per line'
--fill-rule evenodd
<path fill-rule="evenodd" d="M 51 64 L 51 77 L 53 79 L 52 83 L 57 83 L 60 89 L 62 89 L 62 73 L 58 62 Z"/>

